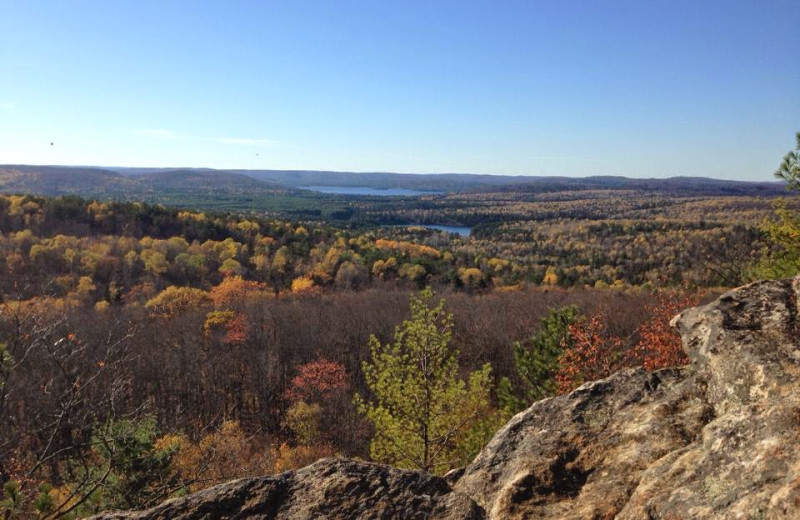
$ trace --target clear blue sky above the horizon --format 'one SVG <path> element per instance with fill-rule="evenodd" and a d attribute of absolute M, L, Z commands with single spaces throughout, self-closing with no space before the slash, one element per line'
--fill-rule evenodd
<path fill-rule="evenodd" d="M 0 0 L 0 163 L 771 180 L 798 27 L 797 0 Z"/>

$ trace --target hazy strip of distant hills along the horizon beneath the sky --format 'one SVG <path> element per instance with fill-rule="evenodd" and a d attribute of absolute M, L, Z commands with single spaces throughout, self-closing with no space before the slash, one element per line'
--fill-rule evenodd
<path fill-rule="evenodd" d="M 298 189 L 306 186 L 359 186 L 440 192 L 636 190 L 698 196 L 785 194 L 785 185 L 781 182 L 741 182 L 705 177 L 631 179 L 618 176 L 526 177 L 462 173 L 425 175 L 310 170 L 225 171 L 208 168 L 0 165 L 0 191 L 7 193 L 74 194 L 187 207 L 257 210 L 278 210 L 286 207 L 313 210 L 319 201 L 335 199 L 334 196 Z M 308 200 L 309 198 L 314 198 L 316 202 Z"/>

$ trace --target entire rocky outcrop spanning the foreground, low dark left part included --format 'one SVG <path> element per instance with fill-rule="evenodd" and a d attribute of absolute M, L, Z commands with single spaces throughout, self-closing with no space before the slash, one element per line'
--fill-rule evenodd
<path fill-rule="evenodd" d="M 691 365 L 518 414 L 447 480 L 329 459 L 123 518 L 800 519 L 800 279 L 683 312 Z"/>

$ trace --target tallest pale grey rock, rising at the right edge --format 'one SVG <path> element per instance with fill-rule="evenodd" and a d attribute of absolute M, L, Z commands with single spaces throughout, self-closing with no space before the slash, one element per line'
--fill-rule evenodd
<path fill-rule="evenodd" d="M 798 296 L 800 279 L 758 282 L 673 321 L 716 416 L 647 468 L 620 519 L 800 518 Z"/>

